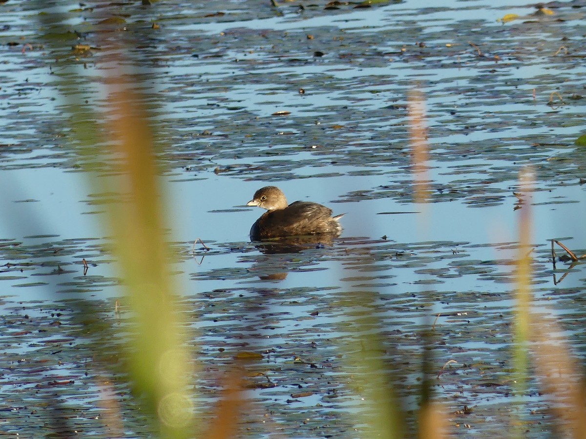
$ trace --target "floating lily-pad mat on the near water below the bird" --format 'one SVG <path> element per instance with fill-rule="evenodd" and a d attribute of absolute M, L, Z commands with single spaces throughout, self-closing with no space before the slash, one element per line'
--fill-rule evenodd
<path fill-rule="evenodd" d="M 85 242 L 78 244 L 84 251 Z M 35 248 L 58 245 L 64 242 Z M 190 361 L 203 366 L 192 385 L 199 389 L 203 405 L 210 406 L 220 396 L 224 373 L 236 368 L 251 398 L 239 422 L 243 434 L 360 435 L 363 427 L 355 415 L 367 412 L 369 402 L 355 382 L 366 373 L 363 362 L 370 358 L 388 366 L 380 373 L 394 371 L 389 386 L 404 399 L 408 419 L 414 420 L 423 361 L 421 331 L 433 320 L 434 399 L 445 404 L 449 431 L 502 431 L 518 419 L 510 407 L 519 396 L 526 409 L 520 416 L 524 427 L 534 434 L 551 433 L 558 420 L 538 382 L 532 379 L 525 395 L 516 395 L 511 382 L 512 260 L 478 259 L 482 246 L 447 241 L 345 239 L 328 248 L 286 255 L 252 252 L 249 246 L 231 243 L 223 249 L 210 243 L 207 259 L 221 261 L 227 253 L 236 253 L 244 269 L 234 276 L 229 268 L 198 266 L 193 273 L 199 280 L 196 291 L 179 301 L 188 333 L 203 334 L 189 341 L 198 345 Z M 512 243 L 495 246 L 515 250 Z M 182 258 L 188 258 L 192 243 L 183 248 Z M 70 258 L 76 254 L 71 252 Z M 548 245 L 534 253 L 533 269 L 543 273 L 537 280 L 551 279 L 550 256 Z M 273 273 L 275 266 L 288 276 L 305 276 L 328 261 L 342 267 L 338 284 L 258 285 L 258 278 Z M 67 258 L 60 263 L 66 266 Z M 82 277 L 83 265 L 75 267 L 80 273 L 76 277 Z M 42 270 L 42 265 L 34 265 L 27 275 Z M 471 278 L 478 290 L 457 289 L 458 279 L 469 284 Z M 217 287 L 219 279 L 225 287 Z M 435 282 L 417 284 L 422 280 Z M 206 289 L 208 284 L 214 288 Z M 114 283 L 100 287 L 118 288 Z M 557 309 L 574 310 L 584 303 L 584 292 L 583 285 L 537 284 L 533 306 L 543 310 L 555 296 Z M 73 311 L 76 300 L 17 302 L 6 297 L 1 304 L 2 389 L 9 394 L 4 399 L 5 431 L 50 436 L 51 431 L 77 430 L 111 437 L 110 425 L 120 417 L 125 431 L 148 434 L 140 399 L 132 396 L 122 373 L 127 359 L 120 356 L 120 347 L 131 321 L 125 299 L 118 299 L 118 305 L 115 297 L 96 299 L 83 318 Z M 586 332 L 581 320 L 580 311 L 558 317 L 569 334 L 564 338 L 583 357 Z M 87 336 L 80 337 L 80 331 Z M 365 335 L 372 333 L 383 339 L 381 348 L 365 344 Z M 552 337 L 555 341 L 557 335 Z M 362 361 L 350 366 L 349 357 Z M 210 413 L 202 416 L 207 419 Z M 56 419 L 62 424 L 56 426 Z"/>

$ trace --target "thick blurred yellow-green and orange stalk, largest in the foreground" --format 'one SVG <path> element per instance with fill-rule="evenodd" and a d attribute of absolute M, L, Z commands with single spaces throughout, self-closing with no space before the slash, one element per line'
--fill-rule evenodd
<path fill-rule="evenodd" d="M 118 61 L 120 66 L 121 60 Z M 142 109 L 143 98 L 132 90 L 121 68 L 107 77 L 108 105 L 113 114 L 109 133 L 124 200 L 110 205 L 115 253 L 135 314 L 130 365 L 135 385 L 156 414 L 161 437 L 193 434 L 192 398 L 187 377 L 190 358 L 175 309 L 176 288 L 169 275 L 171 254 L 166 243 L 162 193 L 154 140 Z"/>

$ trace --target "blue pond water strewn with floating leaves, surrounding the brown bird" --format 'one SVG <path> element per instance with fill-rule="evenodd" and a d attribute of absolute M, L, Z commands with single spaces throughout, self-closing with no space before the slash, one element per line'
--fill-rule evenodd
<path fill-rule="evenodd" d="M 87 157 L 71 132 L 80 125 L 62 99 L 102 108 L 107 48 L 119 39 L 131 44 L 125 62 L 139 66 L 160 139 L 173 268 L 186 325 L 200 334 L 196 402 L 210 406 L 239 353 L 260 353 L 239 366 L 253 400 L 243 434 L 360 437 L 355 415 L 368 396 L 356 359 L 398 366 L 389 380 L 411 417 L 432 325 L 434 367 L 456 362 L 434 383 L 452 433 L 502 434 L 517 416 L 532 437 L 551 433 L 537 382 L 512 396 L 513 262 L 530 207 L 535 309 L 558 320 L 583 363 L 584 265 L 553 270 L 548 240 L 586 253 L 586 155 L 574 145 L 584 133 L 586 4 L 552 3 L 553 15 L 506 1 L 299 5 L 51 2 L 40 14 L 29 2 L 0 5 L 6 431 L 50 435 L 63 419 L 111 437 L 109 392 L 128 435 L 149 433 L 117 379 L 129 317 L 100 215 L 114 194 L 93 193 L 81 172 Z M 52 25 L 57 13 L 70 33 Z M 112 13 L 125 23 L 103 32 L 97 23 Z M 520 17 L 497 22 L 510 13 Z M 93 49 L 75 53 L 76 43 Z M 414 203 L 413 88 L 427 109 L 428 204 Z M 515 209 L 525 166 L 534 194 Z M 261 212 L 244 204 L 265 184 L 345 212 L 341 238 L 296 253 L 250 243 Z M 518 400 L 521 413 L 510 409 Z"/>

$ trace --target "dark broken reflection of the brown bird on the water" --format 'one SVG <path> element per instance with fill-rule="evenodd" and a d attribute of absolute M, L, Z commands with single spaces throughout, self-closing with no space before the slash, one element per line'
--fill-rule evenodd
<path fill-rule="evenodd" d="M 265 257 L 259 258 L 250 271 L 261 280 L 284 280 L 292 266 L 299 267 L 300 264 L 303 266 L 314 262 L 315 255 L 306 251 L 331 246 L 334 239 L 335 236 L 332 235 L 308 235 L 253 242 Z M 300 260 L 301 252 L 308 253 L 306 260 Z"/>

